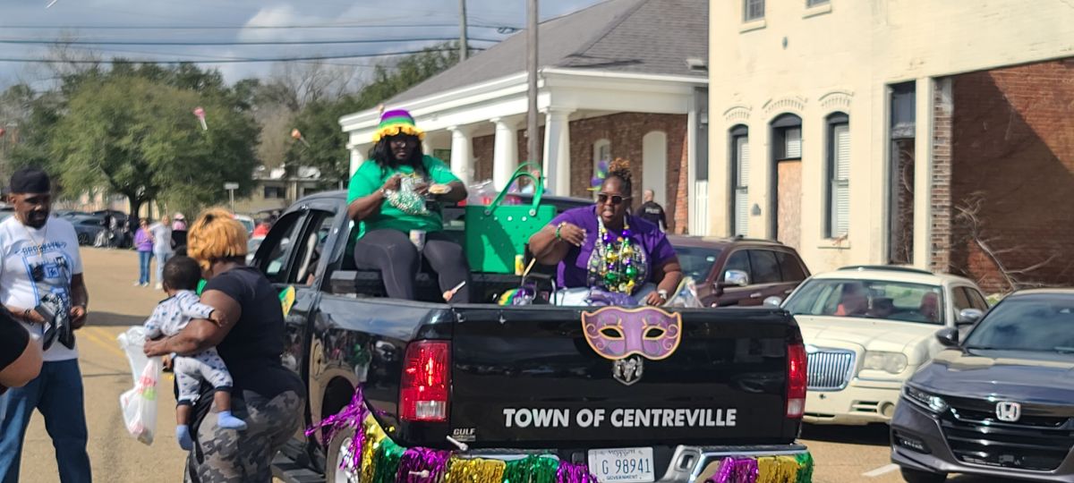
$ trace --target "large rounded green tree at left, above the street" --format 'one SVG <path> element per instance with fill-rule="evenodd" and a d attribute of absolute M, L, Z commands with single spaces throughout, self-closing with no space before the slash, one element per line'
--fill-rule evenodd
<path fill-rule="evenodd" d="M 189 71 L 176 73 L 179 85 L 193 86 Z M 182 209 L 218 203 L 226 181 L 249 193 L 259 131 L 248 113 L 222 90 L 206 96 L 126 74 L 81 83 L 52 128 L 48 165 L 64 189 L 107 187 L 130 200 L 131 213 L 150 200 Z M 208 130 L 191 114 L 194 106 L 205 109 Z"/>

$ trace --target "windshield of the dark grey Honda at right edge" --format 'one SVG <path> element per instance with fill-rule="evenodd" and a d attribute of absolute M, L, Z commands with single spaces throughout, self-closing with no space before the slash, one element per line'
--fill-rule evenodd
<path fill-rule="evenodd" d="M 968 349 L 1074 352 L 1074 297 L 1001 302 L 966 339 Z"/>

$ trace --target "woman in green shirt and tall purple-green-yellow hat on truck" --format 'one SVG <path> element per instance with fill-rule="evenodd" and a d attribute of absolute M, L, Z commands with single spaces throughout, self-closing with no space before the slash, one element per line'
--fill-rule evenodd
<path fill-rule="evenodd" d="M 354 263 L 380 270 L 392 298 L 413 299 L 421 257 L 439 276 L 440 290 L 469 302 L 469 267 L 459 244 L 445 236 L 433 202 L 466 199 L 466 187 L 451 170 L 421 150 L 422 132 L 406 111 L 389 111 L 373 136 L 371 159 L 350 178 L 347 215 L 360 222 Z M 462 287 L 448 296 L 448 292 Z"/>

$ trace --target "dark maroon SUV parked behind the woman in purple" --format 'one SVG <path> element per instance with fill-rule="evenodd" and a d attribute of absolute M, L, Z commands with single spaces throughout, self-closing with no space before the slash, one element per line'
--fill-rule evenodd
<path fill-rule="evenodd" d="M 697 282 L 701 303 L 710 307 L 759 306 L 770 296 L 786 296 L 809 278 L 794 248 L 750 238 L 669 236 L 683 274 Z"/>

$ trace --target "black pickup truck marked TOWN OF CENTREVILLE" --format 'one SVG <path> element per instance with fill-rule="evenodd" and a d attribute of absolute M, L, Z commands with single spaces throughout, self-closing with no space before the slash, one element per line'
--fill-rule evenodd
<path fill-rule="evenodd" d="M 657 310 L 679 324 L 674 347 L 627 366 L 598 353 L 584 333 L 591 308 L 448 305 L 424 273 L 423 301 L 384 298 L 378 274 L 353 266 L 345 196 L 295 203 L 251 262 L 280 290 L 295 290 L 284 363 L 308 383 L 308 424 L 344 409 L 361 385 L 401 445 L 591 465 L 610 454 L 600 450 L 640 450 L 651 467 L 618 481 L 702 481 L 728 455 L 807 451 L 795 443 L 806 351 L 785 312 Z M 519 280 L 474 274 L 473 283 L 490 299 Z M 645 338 L 668 336 L 652 330 L 645 325 Z M 337 474 L 343 435 L 326 447 L 316 436 L 294 435 L 276 458 L 278 478 L 349 481 Z"/>

